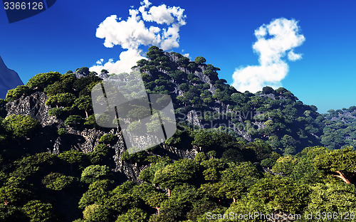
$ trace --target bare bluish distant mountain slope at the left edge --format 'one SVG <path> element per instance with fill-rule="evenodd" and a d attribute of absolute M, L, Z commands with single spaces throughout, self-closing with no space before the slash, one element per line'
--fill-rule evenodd
<path fill-rule="evenodd" d="M 21 78 L 14 70 L 7 68 L 0 56 L 0 98 L 4 99 L 7 91 L 18 85 L 23 85 Z"/>

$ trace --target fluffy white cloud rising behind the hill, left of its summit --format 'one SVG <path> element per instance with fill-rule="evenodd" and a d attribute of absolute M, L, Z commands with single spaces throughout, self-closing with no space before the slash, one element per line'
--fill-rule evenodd
<path fill-rule="evenodd" d="M 120 60 L 115 62 L 98 60 L 90 71 L 130 72 L 136 61 L 144 58 L 140 46 L 155 45 L 163 50 L 179 47 L 179 29 L 186 23 L 184 9 L 165 4 L 151 6 L 150 1 L 144 0 L 139 9 L 129 9 L 129 14 L 126 20 L 109 16 L 96 30 L 96 37 L 105 38 L 105 47 L 121 46 L 127 51 L 120 53 Z M 147 23 L 153 24 L 148 27 Z"/>

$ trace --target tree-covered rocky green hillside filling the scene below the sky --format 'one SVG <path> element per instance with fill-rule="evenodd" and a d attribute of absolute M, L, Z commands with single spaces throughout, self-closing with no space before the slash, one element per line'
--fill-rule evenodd
<path fill-rule="evenodd" d="M 172 97 L 178 129 L 131 155 L 120 127 L 95 123 L 90 97 L 109 76 L 130 86 L 129 74 L 83 67 L 9 90 L 0 100 L 0 221 L 209 221 L 230 212 L 356 221 L 356 107 L 321 115 L 285 88 L 238 92 L 218 71 L 202 56 L 150 47 L 130 75 Z"/>

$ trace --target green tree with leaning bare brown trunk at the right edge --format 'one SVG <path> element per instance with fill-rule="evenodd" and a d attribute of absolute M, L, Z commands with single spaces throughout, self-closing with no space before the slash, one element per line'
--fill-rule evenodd
<path fill-rule="evenodd" d="M 356 175 L 356 151 L 352 147 L 330 150 L 314 159 L 318 169 L 342 179 L 346 184 Z"/>

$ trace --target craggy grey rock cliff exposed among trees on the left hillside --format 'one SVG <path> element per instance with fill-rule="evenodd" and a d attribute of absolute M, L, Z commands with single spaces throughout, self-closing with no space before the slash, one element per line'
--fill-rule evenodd
<path fill-rule="evenodd" d="M 111 158 L 114 166 L 112 171 L 120 172 L 125 179 L 139 182 L 137 177 L 140 171 L 147 166 L 137 166 L 135 163 L 121 160 L 121 156 L 125 152 L 125 145 L 120 132 L 115 129 L 75 129 L 65 126 L 63 120 L 48 115 L 51 107 L 45 105 L 46 100 L 48 100 L 48 96 L 45 93 L 36 92 L 6 104 L 7 115 L 30 115 L 41 123 L 42 128 L 37 137 L 32 138 L 26 144 L 26 147 L 34 147 L 38 152 L 47 151 L 53 154 L 59 154 L 70 149 L 88 153 L 94 151 L 94 147 L 99 144 L 99 139 L 103 134 L 115 134 L 119 139 L 116 144 L 110 145 L 115 150 L 115 155 Z M 68 133 L 58 136 L 56 129 L 61 127 L 66 127 Z M 181 150 L 164 144 L 161 147 L 164 150 L 162 155 L 167 154 L 172 159 L 194 159 L 197 154 L 197 149 Z"/>

